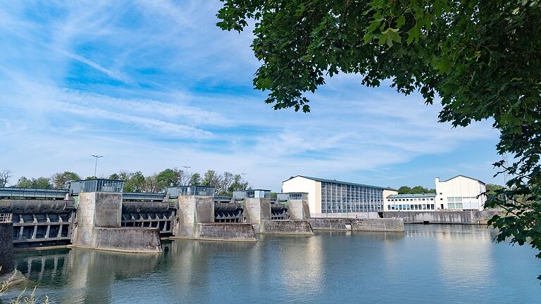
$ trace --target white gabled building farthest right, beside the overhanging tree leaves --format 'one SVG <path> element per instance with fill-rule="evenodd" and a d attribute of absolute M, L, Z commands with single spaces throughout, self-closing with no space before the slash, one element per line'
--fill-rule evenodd
<path fill-rule="evenodd" d="M 437 208 L 451 210 L 483 210 L 487 200 L 484 182 L 479 179 L 456 175 L 450 179 L 440 181 L 436 177 Z"/>

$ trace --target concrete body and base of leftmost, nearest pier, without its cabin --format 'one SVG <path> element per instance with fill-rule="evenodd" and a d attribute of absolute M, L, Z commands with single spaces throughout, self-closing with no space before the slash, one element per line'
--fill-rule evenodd
<path fill-rule="evenodd" d="M 157 228 L 120 227 L 122 194 L 79 194 L 73 246 L 130 253 L 161 252 Z"/>

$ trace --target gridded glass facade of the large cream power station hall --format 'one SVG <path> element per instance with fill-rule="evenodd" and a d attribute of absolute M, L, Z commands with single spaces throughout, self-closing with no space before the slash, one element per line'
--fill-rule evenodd
<path fill-rule="evenodd" d="M 383 189 L 371 186 L 321 182 L 322 213 L 383 211 Z"/>

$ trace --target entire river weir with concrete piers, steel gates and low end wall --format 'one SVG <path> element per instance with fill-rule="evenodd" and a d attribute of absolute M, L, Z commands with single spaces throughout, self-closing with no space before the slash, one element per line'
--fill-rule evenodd
<path fill-rule="evenodd" d="M 213 186 L 126 193 L 122 180 L 89 179 L 70 189 L 0 188 L 4 272 L 11 251 L 69 246 L 161 253 L 161 239 L 257 241 L 259 234 L 312 236 L 313 229 L 403 232 L 399 219 L 311 218 L 308 194 L 270 190 L 214 196 Z"/>

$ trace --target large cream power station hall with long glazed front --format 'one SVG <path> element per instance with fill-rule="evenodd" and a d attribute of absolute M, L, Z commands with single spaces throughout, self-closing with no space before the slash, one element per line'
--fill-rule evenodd
<path fill-rule="evenodd" d="M 386 196 L 397 191 L 335 179 L 297 175 L 282 182 L 282 192 L 306 192 L 312 217 L 378 217 Z"/>

